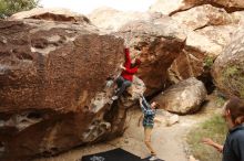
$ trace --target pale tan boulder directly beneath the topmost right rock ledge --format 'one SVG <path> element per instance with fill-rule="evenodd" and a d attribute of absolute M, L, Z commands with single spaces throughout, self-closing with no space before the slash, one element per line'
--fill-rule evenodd
<path fill-rule="evenodd" d="M 209 25 L 224 25 L 233 23 L 234 19 L 224 9 L 204 4 L 192 8 L 187 11 L 172 15 L 173 20 L 186 25 L 191 30 L 201 29 Z"/>

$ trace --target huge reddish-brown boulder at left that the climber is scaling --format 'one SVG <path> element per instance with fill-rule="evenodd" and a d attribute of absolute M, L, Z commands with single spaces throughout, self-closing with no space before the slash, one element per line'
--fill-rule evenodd
<path fill-rule="evenodd" d="M 123 62 L 122 39 L 81 23 L 0 21 L 0 160 L 123 133 L 129 106 L 108 104 L 114 87 L 105 87 Z M 144 90 L 138 79 L 133 86 Z"/>

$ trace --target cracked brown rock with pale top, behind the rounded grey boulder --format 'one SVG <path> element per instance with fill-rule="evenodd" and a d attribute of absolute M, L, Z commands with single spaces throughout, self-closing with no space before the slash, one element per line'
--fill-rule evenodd
<path fill-rule="evenodd" d="M 167 69 L 170 80 L 177 83 L 203 75 L 221 52 L 222 46 L 214 40 L 197 32 L 190 32 L 184 49 Z"/>

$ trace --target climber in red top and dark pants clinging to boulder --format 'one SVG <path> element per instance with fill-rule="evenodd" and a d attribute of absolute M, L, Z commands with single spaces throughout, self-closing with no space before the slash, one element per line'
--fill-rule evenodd
<path fill-rule="evenodd" d="M 125 54 L 125 63 L 124 65 L 121 65 L 123 72 L 121 73 L 120 77 L 116 79 L 118 89 L 115 96 L 112 97 L 112 100 L 116 100 L 123 94 L 123 92 L 131 86 L 133 80 L 133 75 L 138 72 L 138 68 L 141 64 L 141 61 L 139 58 L 131 60 L 129 49 L 124 50 L 124 54 Z"/>

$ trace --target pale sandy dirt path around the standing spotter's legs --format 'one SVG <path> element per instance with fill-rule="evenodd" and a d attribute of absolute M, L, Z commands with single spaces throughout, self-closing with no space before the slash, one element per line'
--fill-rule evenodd
<path fill-rule="evenodd" d="M 210 101 L 195 115 L 180 116 L 180 122 L 171 127 L 157 122 L 152 135 L 152 144 L 157 152 L 157 157 L 165 161 L 189 161 L 187 146 L 185 143 L 187 132 L 192 127 L 207 119 L 209 116 L 217 111 L 220 111 L 220 108 L 216 108 L 216 104 Z M 140 116 L 140 109 L 133 109 L 130 111 L 128 119 L 129 127 L 124 136 L 121 138 L 85 148 L 77 148 L 57 157 L 38 159 L 35 161 L 78 161 L 82 155 L 102 152 L 114 148 L 122 148 L 141 158 L 145 158 L 149 155 L 149 151 L 143 142 L 143 127 L 138 126 Z"/>

